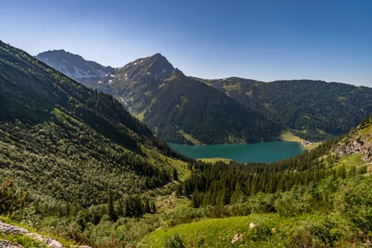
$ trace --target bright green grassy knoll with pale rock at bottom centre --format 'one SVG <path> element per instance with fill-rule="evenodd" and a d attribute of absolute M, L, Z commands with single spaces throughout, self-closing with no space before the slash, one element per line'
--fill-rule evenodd
<path fill-rule="evenodd" d="M 181 237 L 184 247 L 304 247 L 316 243 L 332 246 L 332 240 L 348 244 L 350 233 L 357 228 L 339 216 L 300 215 L 283 217 L 278 214 L 252 214 L 242 217 L 207 219 L 190 224 L 160 229 L 142 239 L 145 247 L 164 247 L 167 239 Z M 300 241 L 300 235 L 318 232 L 317 241 Z M 328 237 L 327 237 L 328 236 Z M 349 236 L 349 237 L 348 237 Z M 336 244 L 336 243 L 335 243 Z"/>

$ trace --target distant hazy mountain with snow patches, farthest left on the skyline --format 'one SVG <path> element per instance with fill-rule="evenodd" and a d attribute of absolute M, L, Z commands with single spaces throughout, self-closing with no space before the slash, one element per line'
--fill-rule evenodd
<path fill-rule="evenodd" d="M 65 50 L 40 52 L 35 57 L 84 86 L 99 88 L 103 92 L 107 92 L 108 89 L 103 86 L 102 78 L 111 77 L 115 73 L 113 67 L 104 67 L 96 62 L 84 60 L 83 57 Z"/>

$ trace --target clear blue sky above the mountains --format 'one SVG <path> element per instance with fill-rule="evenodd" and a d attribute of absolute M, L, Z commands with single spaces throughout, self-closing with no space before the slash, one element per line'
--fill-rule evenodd
<path fill-rule="evenodd" d="M 121 67 L 156 52 L 188 76 L 372 86 L 371 0 L 0 0 L 0 40 Z"/>

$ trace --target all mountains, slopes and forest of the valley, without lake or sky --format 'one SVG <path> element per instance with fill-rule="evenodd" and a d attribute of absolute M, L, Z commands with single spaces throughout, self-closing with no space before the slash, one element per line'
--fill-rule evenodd
<path fill-rule="evenodd" d="M 159 54 L 112 69 L 57 52 L 69 77 L 0 42 L 0 246 L 371 247 L 371 89 L 204 80 Z M 242 164 L 188 159 L 152 133 L 213 144 L 288 129 L 344 135 Z"/>

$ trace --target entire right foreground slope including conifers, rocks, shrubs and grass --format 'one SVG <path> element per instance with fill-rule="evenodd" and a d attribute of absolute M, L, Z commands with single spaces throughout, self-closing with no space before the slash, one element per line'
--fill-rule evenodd
<path fill-rule="evenodd" d="M 194 215 L 206 214 L 195 222 L 179 214 L 142 245 L 370 247 L 371 126 L 372 115 L 348 135 L 276 164 L 194 164 L 179 192 L 191 198 Z"/>

